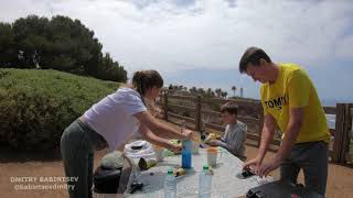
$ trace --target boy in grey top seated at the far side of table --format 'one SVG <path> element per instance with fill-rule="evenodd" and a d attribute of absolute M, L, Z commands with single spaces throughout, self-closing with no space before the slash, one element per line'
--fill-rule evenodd
<path fill-rule="evenodd" d="M 238 106 L 232 101 L 221 107 L 222 120 L 227 125 L 223 138 L 221 138 L 221 140 L 211 141 L 210 145 L 222 146 L 236 157 L 245 161 L 247 125 L 237 120 L 237 110 Z"/>

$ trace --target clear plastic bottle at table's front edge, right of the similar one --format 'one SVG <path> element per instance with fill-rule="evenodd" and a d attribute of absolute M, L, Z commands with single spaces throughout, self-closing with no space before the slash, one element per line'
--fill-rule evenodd
<path fill-rule="evenodd" d="M 199 198 L 211 197 L 212 176 L 208 165 L 204 165 L 199 178 Z"/>

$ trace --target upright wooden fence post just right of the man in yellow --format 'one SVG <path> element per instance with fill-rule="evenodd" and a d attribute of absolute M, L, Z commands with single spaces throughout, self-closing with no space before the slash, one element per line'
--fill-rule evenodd
<path fill-rule="evenodd" d="M 333 142 L 332 162 L 339 163 L 341 161 L 343 131 L 344 131 L 344 114 L 345 108 L 343 103 L 335 105 L 335 130 Z"/>

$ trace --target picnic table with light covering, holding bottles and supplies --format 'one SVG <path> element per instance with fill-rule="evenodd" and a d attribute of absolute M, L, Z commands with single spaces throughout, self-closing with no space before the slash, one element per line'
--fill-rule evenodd
<path fill-rule="evenodd" d="M 272 180 L 271 177 L 259 178 L 258 176 L 247 179 L 237 178 L 236 174 L 242 172 L 243 162 L 224 148 L 218 147 L 218 151 L 217 165 L 212 168 L 214 175 L 212 176 L 211 197 L 229 198 L 244 196 L 248 189 Z M 202 172 L 203 165 L 207 163 L 206 157 L 205 148 L 200 148 L 199 154 L 192 155 L 192 168 L 186 169 L 185 175 L 176 178 L 178 197 L 199 196 L 199 174 Z M 135 162 L 135 166 L 132 167 L 124 197 L 162 198 L 164 196 L 163 182 L 167 170 L 170 167 L 181 166 L 181 155 L 164 157 L 163 162 L 145 172 L 140 172 L 136 164 L 137 162 Z M 136 180 L 143 183 L 143 188 L 142 190 L 129 194 L 129 185 Z"/>

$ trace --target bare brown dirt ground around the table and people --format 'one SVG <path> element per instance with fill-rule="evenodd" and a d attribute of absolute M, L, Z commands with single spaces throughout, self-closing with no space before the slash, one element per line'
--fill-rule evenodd
<path fill-rule="evenodd" d="M 172 125 L 172 124 L 171 124 Z M 107 150 L 97 151 L 95 154 L 95 167 L 97 167 L 100 158 L 106 154 Z M 248 158 L 255 156 L 257 147 L 247 146 Z M 268 153 L 268 160 L 272 153 Z M 41 156 L 41 157 L 39 157 Z M 271 175 L 278 178 L 279 172 L 275 170 Z M 35 177 L 36 182 L 30 182 L 25 177 Z M 62 198 L 68 197 L 65 189 L 15 189 L 25 185 L 46 185 L 47 187 L 58 188 L 64 182 L 50 182 L 40 179 L 50 179 L 50 177 L 64 177 L 63 163 L 56 154 L 18 154 L 7 151 L 0 152 L 0 193 L 2 198 Z M 20 182 L 19 179 L 23 179 Z M 330 164 L 329 179 L 327 187 L 328 198 L 353 198 L 353 168 Z M 25 180 L 26 179 L 26 180 Z M 302 173 L 300 173 L 299 182 L 303 183 Z"/>

